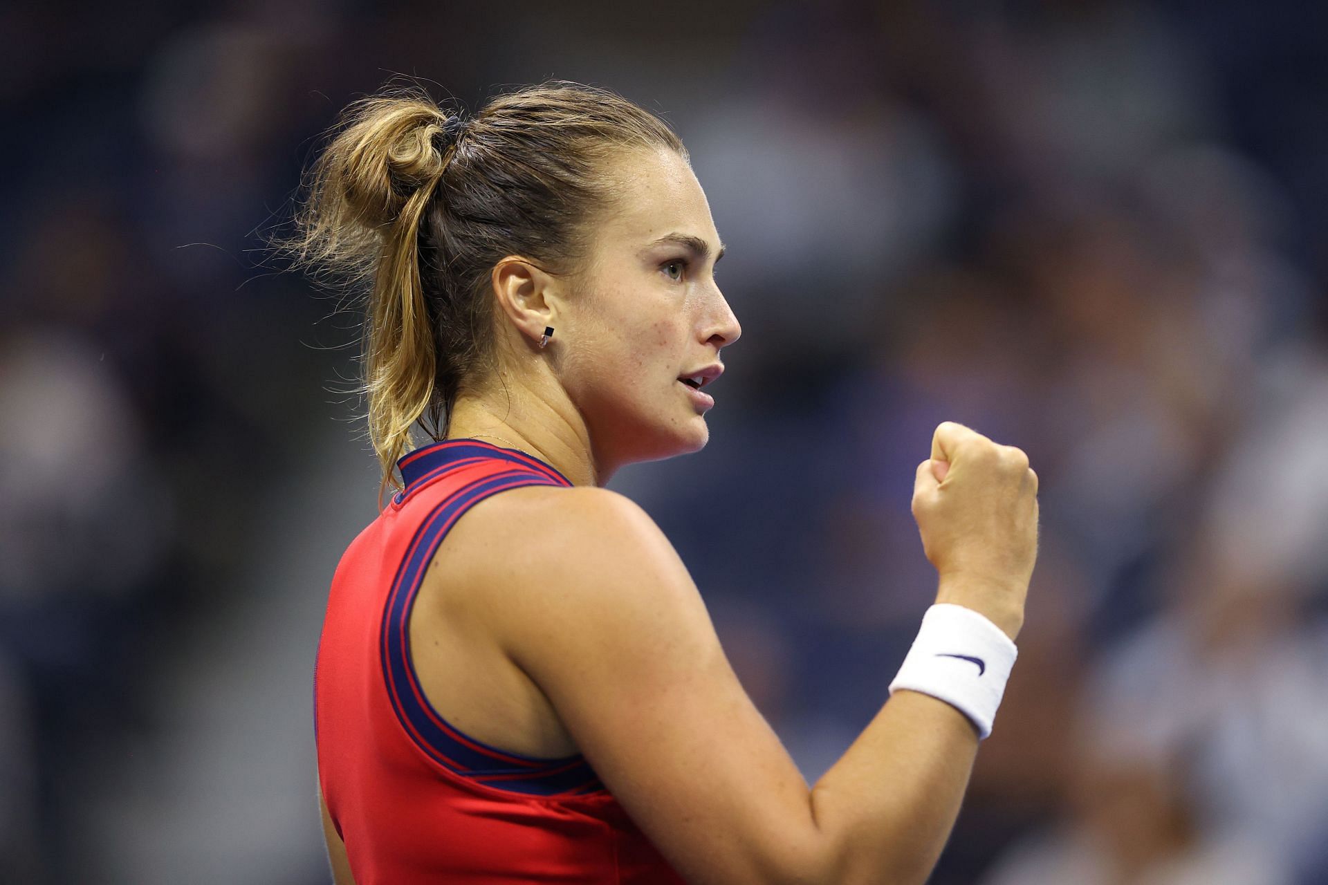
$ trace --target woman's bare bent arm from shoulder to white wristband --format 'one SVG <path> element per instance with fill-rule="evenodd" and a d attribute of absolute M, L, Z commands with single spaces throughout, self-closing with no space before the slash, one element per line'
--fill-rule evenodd
<path fill-rule="evenodd" d="M 538 495 L 487 511 L 522 551 L 493 582 L 495 634 L 679 872 L 696 882 L 927 877 L 977 747 L 961 714 L 900 691 L 809 789 L 651 519 L 604 490 Z M 979 565 L 971 556 L 954 580 L 943 572 L 942 596 L 977 608 L 988 593 Z"/>

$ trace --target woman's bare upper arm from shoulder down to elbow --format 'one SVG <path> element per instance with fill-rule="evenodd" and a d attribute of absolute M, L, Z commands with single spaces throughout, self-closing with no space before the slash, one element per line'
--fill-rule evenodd
<path fill-rule="evenodd" d="M 560 490 L 509 512 L 495 633 L 689 881 L 815 878 L 809 791 L 733 674 L 687 568 L 636 504 Z"/>

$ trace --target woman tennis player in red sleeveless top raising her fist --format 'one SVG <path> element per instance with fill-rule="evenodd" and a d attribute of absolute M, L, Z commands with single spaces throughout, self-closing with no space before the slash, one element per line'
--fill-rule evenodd
<path fill-rule="evenodd" d="M 377 96 L 299 223 L 307 267 L 371 289 L 369 430 L 398 486 L 341 559 L 319 644 L 336 882 L 922 882 L 1015 659 L 1024 454 L 936 429 L 914 513 L 938 605 L 809 788 L 669 541 L 603 488 L 705 444 L 740 334 L 668 126 L 575 84 L 473 118 Z"/>

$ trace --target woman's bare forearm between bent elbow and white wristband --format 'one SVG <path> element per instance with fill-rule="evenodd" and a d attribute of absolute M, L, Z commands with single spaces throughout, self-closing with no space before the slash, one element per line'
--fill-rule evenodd
<path fill-rule="evenodd" d="M 898 691 L 811 791 L 827 881 L 923 882 L 955 825 L 977 734 L 950 705 Z"/>

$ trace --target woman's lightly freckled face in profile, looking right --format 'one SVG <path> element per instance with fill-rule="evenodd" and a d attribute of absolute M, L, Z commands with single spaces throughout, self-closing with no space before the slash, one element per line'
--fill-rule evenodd
<path fill-rule="evenodd" d="M 741 334 L 713 276 L 720 236 L 696 175 L 671 150 L 631 151 L 612 169 L 616 206 L 594 227 L 587 271 L 560 318 L 558 374 L 586 419 L 603 464 L 697 451 L 709 439 L 704 409 L 679 382 L 720 361 Z M 701 260 L 668 234 L 710 244 Z M 685 267 L 665 265 L 685 260 Z"/>

